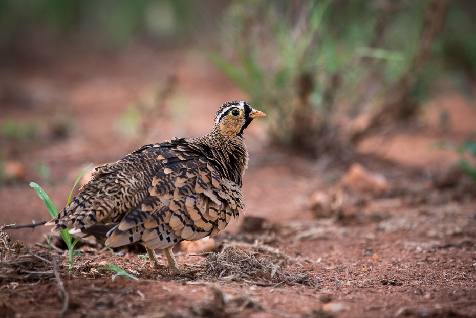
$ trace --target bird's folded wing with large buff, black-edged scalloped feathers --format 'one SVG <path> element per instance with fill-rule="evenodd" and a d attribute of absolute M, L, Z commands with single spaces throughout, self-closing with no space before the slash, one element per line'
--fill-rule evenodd
<path fill-rule="evenodd" d="M 185 149 L 163 152 L 164 166 L 155 174 L 149 197 L 129 212 L 106 244 L 121 246 L 139 235 L 147 247 L 214 236 L 237 219 L 244 208 L 240 188 L 224 178 L 205 157 Z"/>

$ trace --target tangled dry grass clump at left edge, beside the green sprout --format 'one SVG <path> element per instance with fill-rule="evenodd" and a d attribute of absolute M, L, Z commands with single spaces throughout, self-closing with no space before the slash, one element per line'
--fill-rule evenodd
<path fill-rule="evenodd" d="M 11 243 L 10 236 L 0 226 L 0 283 L 32 281 L 54 276 L 47 249 L 30 249 L 23 243 Z"/>

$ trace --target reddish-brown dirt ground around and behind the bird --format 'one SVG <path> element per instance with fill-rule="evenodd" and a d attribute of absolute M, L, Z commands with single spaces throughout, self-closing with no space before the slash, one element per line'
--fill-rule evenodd
<path fill-rule="evenodd" d="M 40 184 L 60 209 L 91 162 L 113 162 L 143 144 L 176 136 L 204 135 L 221 103 L 247 99 L 204 54 L 140 44 L 122 53 L 44 50 L 10 57 L 0 72 L 2 120 L 40 123 L 32 139 L 0 141 L 4 162 L 23 169 L 19 180 L 0 187 L 4 224 L 49 219 L 30 181 Z M 160 102 L 157 96 L 165 94 L 166 102 Z M 118 132 L 131 105 L 158 99 L 158 111 L 141 123 L 141 133 Z M 379 196 L 341 185 L 350 163 L 333 165 L 332 158 L 315 161 L 273 150 L 264 133 L 266 120 L 250 125 L 245 133 L 250 151 L 243 180 L 246 215 L 265 223 L 261 231 L 243 232 L 241 218 L 217 242 L 256 242 L 277 250 L 286 259 L 280 263 L 283 270 L 307 272 L 317 288 L 261 286 L 193 273 L 177 278 L 165 269 L 150 269 L 140 249 L 117 250 L 112 256 L 84 245 L 79 248 L 84 260 L 75 258 L 71 274 L 66 253 L 55 251 L 70 298 L 66 316 L 476 316 L 476 192 L 464 178 L 435 186 L 458 158 L 450 151 L 429 150 L 435 141 L 475 138 L 474 106 L 474 100 L 448 92 L 428 103 L 419 125 L 363 142 L 356 160 L 388 180 L 389 189 Z M 447 129 L 438 123 L 443 110 L 450 116 Z M 322 190 L 332 197 L 339 189 L 341 208 L 317 218 L 311 194 Z M 34 246 L 45 242 L 49 228 L 6 231 L 13 241 Z M 198 271 L 205 260 L 180 250 L 176 256 L 183 267 Z M 96 270 L 103 261 L 139 280 L 112 280 L 111 272 Z M 62 306 L 54 277 L 1 283 L 1 317 L 57 316 Z"/>

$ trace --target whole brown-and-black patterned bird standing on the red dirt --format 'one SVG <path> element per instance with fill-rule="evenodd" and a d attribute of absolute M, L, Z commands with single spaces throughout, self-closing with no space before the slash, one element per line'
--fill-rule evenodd
<path fill-rule="evenodd" d="M 211 132 L 147 144 L 112 164 L 96 167 L 71 202 L 45 225 L 107 237 L 119 247 L 140 242 L 151 267 L 179 275 L 172 248 L 181 241 L 214 237 L 245 209 L 242 178 L 248 167 L 244 130 L 266 116 L 244 101 L 223 103 Z"/>

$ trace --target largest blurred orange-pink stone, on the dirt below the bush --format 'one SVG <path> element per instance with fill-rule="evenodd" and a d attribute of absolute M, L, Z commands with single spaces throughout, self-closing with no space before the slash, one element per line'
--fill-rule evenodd
<path fill-rule="evenodd" d="M 358 163 L 349 168 L 344 180 L 360 193 L 381 195 L 388 190 L 388 181 L 384 175 L 371 172 Z"/>

